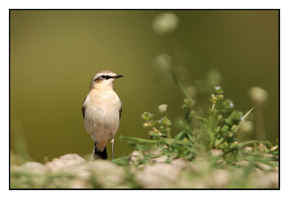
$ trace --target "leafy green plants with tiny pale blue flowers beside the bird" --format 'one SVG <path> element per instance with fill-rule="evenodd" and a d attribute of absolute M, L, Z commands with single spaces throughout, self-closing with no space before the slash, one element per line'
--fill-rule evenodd
<path fill-rule="evenodd" d="M 171 120 L 164 116 L 159 120 L 154 120 L 154 115 L 144 112 L 141 115 L 143 126 L 150 128 L 150 140 L 135 137 L 123 137 L 120 139 L 134 146 L 135 151 L 146 154 L 136 164 L 147 164 L 150 159 L 159 156 L 168 156 L 168 162 L 172 159 L 183 158 L 194 162 L 197 158 L 212 159 L 213 164 L 241 165 L 244 160 L 251 167 L 262 169 L 262 164 L 269 166 L 278 166 L 279 145 L 271 142 L 256 140 L 247 140 L 241 142 L 235 135 L 239 126 L 243 122 L 249 122 L 248 116 L 254 110 L 252 108 L 247 113 L 235 109 L 232 100 L 224 100 L 224 91 L 222 87 L 214 87 L 211 94 L 211 108 L 208 109 L 208 117 L 196 116 L 193 107 L 195 101 L 188 97 L 183 85 L 174 76 L 180 89 L 185 94 L 182 108 L 185 110 L 183 119 L 179 120 L 180 128 L 176 136 L 171 136 Z M 219 108 L 217 108 L 219 107 Z M 160 105 L 159 112 L 165 113 L 167 105 Z M 197 119 L 199 127 L 192 129 L 191 120 Z M 251 123 L 251 122 L 250 122 Z M 253 123 L 252 123 L 253 124 Z M 150 144 L 151 147 L 147 147 Z M 152 148 L 159 148 L 158 155 L 150 153 Z M 212 150 L 219 150 L 217 156 L 212 156 Z M 113 162 L 120 165 L 126 165 L 129 156 L 115 159 Z M 262 164 L 260 164 L 262 163 Z"/>

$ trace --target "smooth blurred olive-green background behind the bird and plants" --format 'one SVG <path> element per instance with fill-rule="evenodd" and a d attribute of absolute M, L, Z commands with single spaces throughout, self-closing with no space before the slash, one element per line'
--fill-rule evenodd
<path fill-rule="evenodd" d="M 178 17 L 177 29 L 167 35 L 152 26 L 162 12 Z M 249 88 L 265 89 L 263 124 L 266 139 L 275 142 L 278 10 L 10 10 L 10 150 L 27 150 L 38 162 L 66 153 L 89 156 L 94 142 L 81 106 L 92 76 L 109 69 L 124 75 L 114 84 L 123 103 L 114 147 L 115 158 L 121 157 L 128 145 L 119 135 L 149 139 L 150 129 L 141 123 L 144 111 L 158 119 L 157 106 L 168 104 L 173 123 L 184 115 L 182 92 L 156 67 L 160 54 L 171 57 L 186 87 L 193 86 L 195 109 L 204 113 L 214 86 L 222 86 L 225 98 L 244 113 L 254 107 Z M 107 151 L 111 159 L 110 142 Z"/>

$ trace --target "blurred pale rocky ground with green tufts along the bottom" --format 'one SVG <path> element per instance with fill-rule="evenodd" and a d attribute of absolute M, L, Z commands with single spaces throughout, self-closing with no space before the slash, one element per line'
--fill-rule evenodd
<path fill-rule="evenodd" d="M 154 158 L 150 164 L 133 166 L 138 151 L 130 155 L 130 165 L 118 166 L 109 160 L 88 162 L 78 154 L 66 154 L 41 164 L 10 164 L 10 189 L 203 189 L 203 188 L 279 188 L 279 168 L 264 167 L 246 172 L 243 168 L 211 168 L 205 159 L 194 163 L 167 156 Z"/>

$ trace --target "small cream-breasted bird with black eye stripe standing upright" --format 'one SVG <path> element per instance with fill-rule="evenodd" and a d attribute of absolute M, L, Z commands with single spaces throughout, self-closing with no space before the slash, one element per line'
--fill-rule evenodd
<path fill-rule="evenodd" d="M 123 75 L 117 75 L 111 70 L 95 73 L 91 79 L 89 93 L 82 104 L 85 129 L 95 142 L 91 160 L 107 159 L 106 144 L 109 138 L 113 159 L 114 137 L 118 131 L 122 106 L 112 86 L 119 77 Z"/>

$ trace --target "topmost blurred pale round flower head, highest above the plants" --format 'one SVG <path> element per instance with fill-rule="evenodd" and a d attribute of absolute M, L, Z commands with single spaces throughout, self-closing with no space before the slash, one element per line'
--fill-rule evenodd
<path fill-rule="evenodd" d="M 163 12 L 155 17 L 152 27 L 156 34 L 165 35 L 173 32 L 177 28 L 178 23 L 179 19 L 177 15 L 171 12 Z"/>

